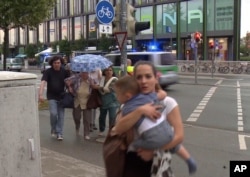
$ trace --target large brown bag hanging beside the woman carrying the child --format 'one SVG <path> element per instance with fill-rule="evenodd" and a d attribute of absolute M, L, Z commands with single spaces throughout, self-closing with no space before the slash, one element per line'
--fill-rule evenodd
<path fill-rule="evenodd" d="M 128 145 L 133 140 L 133 129 L 122 135 L 112 135 L 111 129 L 103 143 L 103 159 L 107 177 L 121 177 L 124 174 Z M 114 166 L 115 165 L 115 166 Z"/>

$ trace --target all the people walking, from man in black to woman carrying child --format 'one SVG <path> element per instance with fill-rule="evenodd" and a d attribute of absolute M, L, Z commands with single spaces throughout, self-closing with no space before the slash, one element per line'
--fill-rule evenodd
<path fill-rule="evenodd" d="M 107 113 L 112 134 L 121 135 L 133 130 L 122 177 L 173 177 L 172 153 L 187 162 L 190 174 L 196 171 L 195 160 L 181 144 L 184 130 L 178 103 L 159 87 L 152 63 L 137 62 L 133 75 L 121 79 L 114 76 L 112 66 L 103 71 L 69 76 L 61 63 L 57 56 L 50 60 L 52 67 L 43 74 L 39 90 L 39 101 L 43 101 L 47 84 L 52 136 L 63 139 L 64 109 L 59 99 L 67 86 L 75 95 L 72 114 L 76 134 L 79 134 L 83 117 L 83 135 L 86 140 L 90 139 L 90 131 L 96 128 L 96 110 L 87 109 L 86 104 L 91 89 L 97 89 L 102 100 L 99 135 L 104 135 Z M 121 111 L 117 114 L 118 108 Z M 159 161 L 164 163 L 159 164 Z"/>

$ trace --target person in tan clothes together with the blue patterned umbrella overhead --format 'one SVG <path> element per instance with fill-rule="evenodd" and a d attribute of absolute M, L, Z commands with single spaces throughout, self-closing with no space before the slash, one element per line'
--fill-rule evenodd
<path fill-rule="evenodd" d="M 91 72 L 96 71 L 98 69 L 103 70 L 109 68 L 112 64 L 113 64 L 112 62 L 110 62 L 107 58 L 101 55 L 85 54 L 85 55 L 78 55 L 71 59 L 70 65 L 72 71 L 79 72 L 80 74 L 72 76 L 70 79 L 66 79 L 65 82 L 70 87 L 70 92 L 75 94 L 73 117 L 76 124 L 77 134 L 79 134 L 81 112 L 83 113 L 85 139 L 90 139 L 89 132 L 90 132 L 90 121 L 91 121 L 91 109 L 87 109 L 86 105 L 90 95 L 91 87 L 94 89 L 102 88 L 101 84 L 100 86 L 95 84 L 94 81 L 89 77 L 89 75 Z M 113 72 L 111 73 L 111 77 L 112 74 Z M 105 77 L 105 81 L 108 78 L 109 78 L 108 76 L 107 78 Z M 103 83 L 105 81 L 103 81 Z M 105 101 L 103 103 L 105 103 Z"/>

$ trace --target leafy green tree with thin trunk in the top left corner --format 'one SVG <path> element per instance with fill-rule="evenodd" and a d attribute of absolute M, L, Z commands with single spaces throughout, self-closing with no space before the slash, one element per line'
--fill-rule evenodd
<path fill-rule="evenodd" d="M 1 0 L 0 29 L 4 31 L 3 66 L 9 53 L 9 30 L 12 28 L 36 28 L 45 21 L 55 6 L 56 0 Z"/>

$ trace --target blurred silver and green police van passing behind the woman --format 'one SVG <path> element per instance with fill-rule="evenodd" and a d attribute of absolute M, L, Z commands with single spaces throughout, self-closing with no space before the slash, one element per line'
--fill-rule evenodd
<path fill-rule="evenodd" d="M 115 73 L 120 73 L 121 53 L 109 53 L 105 55 L 111 62 Z M 178 83 L 178 66 L 176 64 L 176 54 L 172 52 L 127 52 L 129 58 L 134 65 L 139 60 L 151 61 L 157 69 L 159 76 L 159 84 L 162 88 Z M 119 74 L 118 74 L 119 75 Z"/>

